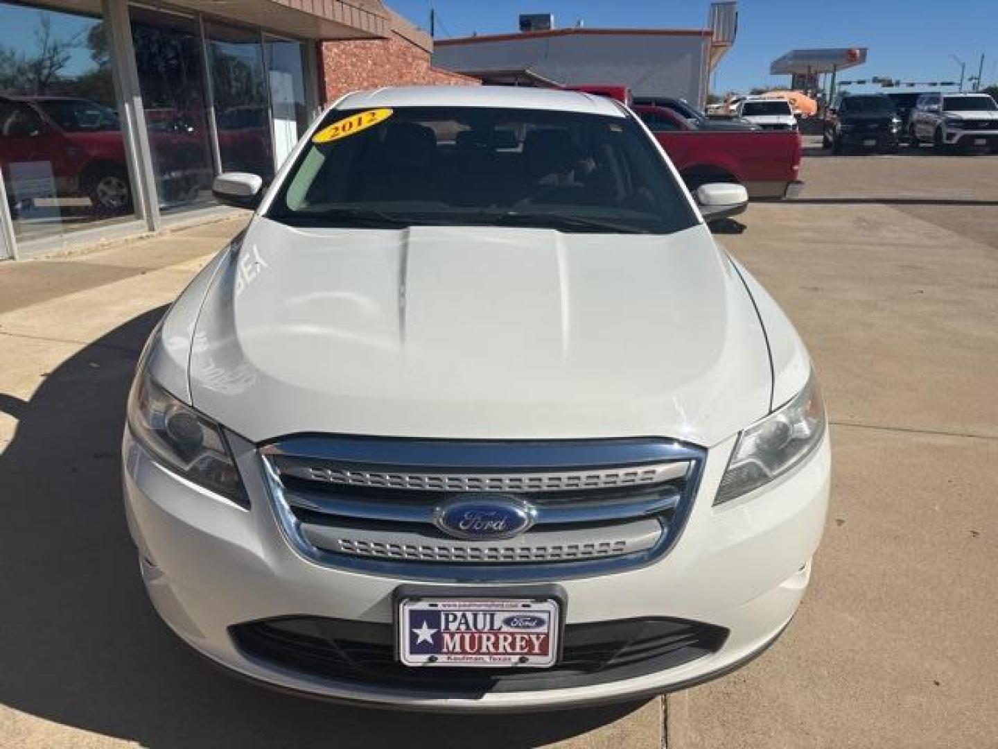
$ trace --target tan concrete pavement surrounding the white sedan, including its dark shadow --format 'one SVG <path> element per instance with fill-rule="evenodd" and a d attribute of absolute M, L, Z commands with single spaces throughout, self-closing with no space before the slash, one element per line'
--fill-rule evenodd
<path fill-rule="evenodd" d="M 0 265 L 0 747 L 998 747 L 998 157 L 811 153 L 720 239 L 821 375 L 811 588 L 745 669 L 644 705 L 360 710 L 218 673 L 160 623 L 120 504 L 139 349 L 240 220 Z"/>

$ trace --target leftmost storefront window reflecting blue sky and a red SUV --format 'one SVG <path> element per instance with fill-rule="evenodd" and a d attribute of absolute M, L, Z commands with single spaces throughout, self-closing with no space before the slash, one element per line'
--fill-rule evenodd
<path fill-rule="evenodd" d="M 134 218 L 105 25 L 0 2 L 0 167 L 14 233 Z"/>

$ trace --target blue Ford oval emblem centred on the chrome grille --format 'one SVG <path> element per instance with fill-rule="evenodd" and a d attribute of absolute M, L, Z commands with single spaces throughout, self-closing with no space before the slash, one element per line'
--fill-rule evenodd
<path fill-rule="evenodd" d="M 444 502 L 433 513 L 440 530 L 467 541 L 512 538 L 534 524 L 534 508 L 508 494 L 476 494 Z"/>

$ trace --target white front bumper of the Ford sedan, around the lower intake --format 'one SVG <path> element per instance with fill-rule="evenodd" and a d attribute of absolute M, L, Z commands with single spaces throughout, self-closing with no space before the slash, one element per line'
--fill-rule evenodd
<path fill-rule="evenodd" d="M 234 445 L 249 510 L 177 476 L 128 433 L 124 487 L 150 597 L 178 635 L 217 663 L 280 688 L 394 708 L 558 709 L 668 691 L 725 673 L 770 644 L 792 617 L 824 524 L 828 437 L 777 482 L 715 508 L 711 501 L 733 446 L 734 438 L 709 451 L 683 535 L 665 557 L 639 569 L 561 582 L 568 624 L 685 619 L 727 629 L 720 649 L 634 678 L 531 691 L 448 690 L 443 672 L 443 686 L 431 693 L 360 684 L 317 677 L 241 649 L 231 628 L 260 619 L 293 615 L 390 623 L 393 592 L 409 582 L 332 569 L 298 555 L 277 526 L 249 443 Z"/>

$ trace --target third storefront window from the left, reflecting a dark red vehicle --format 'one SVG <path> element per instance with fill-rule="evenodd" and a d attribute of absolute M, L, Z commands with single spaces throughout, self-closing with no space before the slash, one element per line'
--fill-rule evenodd
<path fill-rule="evenodd" d="M 206 28 L 222 169 L 272 177 L 267 78 L 259 36 L 214 23 Z"/>

